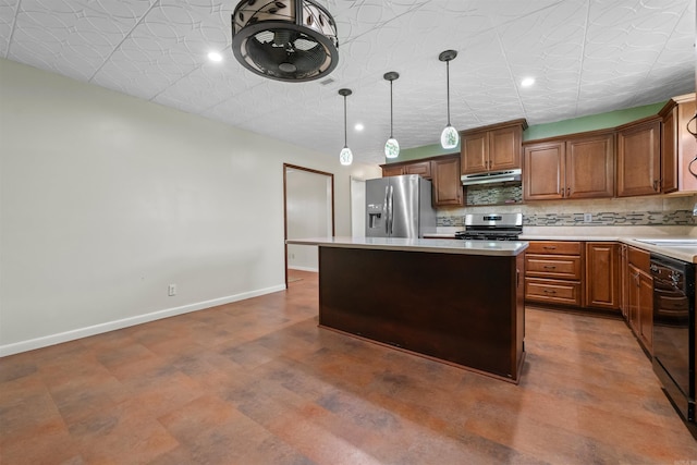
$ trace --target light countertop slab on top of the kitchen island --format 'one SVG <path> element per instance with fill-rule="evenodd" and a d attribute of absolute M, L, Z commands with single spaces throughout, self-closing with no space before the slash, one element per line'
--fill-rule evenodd
<path fill-rule="evenodd" d="M 437 254 L 490 255 L 515 257 L 528 246 L 525 241 L 462 241 L 455 238 L 403 237 L 308 237 L 285 241 L 293 245 L 367 248 L 377 250 L 430 252 Z"/>

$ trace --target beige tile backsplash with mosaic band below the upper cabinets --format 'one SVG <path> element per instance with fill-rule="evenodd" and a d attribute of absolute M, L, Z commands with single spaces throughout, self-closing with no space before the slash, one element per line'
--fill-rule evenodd
<path fill-rule="evenodd" d="M 522 212 L 524 227 L 695 225 L 697 195 L 470 206 L 438 210 L 438 227 L 464 227 L 466 213 Z M 589 215 L 588 215 L 589 213 Z"/>

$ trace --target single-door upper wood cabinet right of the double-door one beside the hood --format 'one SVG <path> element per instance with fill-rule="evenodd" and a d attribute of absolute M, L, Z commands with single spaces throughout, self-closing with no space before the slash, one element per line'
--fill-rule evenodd
<path fill-rule="evenodd" d="M 661 119 L 617 129 L 617 197 L 661 193 Z"/>

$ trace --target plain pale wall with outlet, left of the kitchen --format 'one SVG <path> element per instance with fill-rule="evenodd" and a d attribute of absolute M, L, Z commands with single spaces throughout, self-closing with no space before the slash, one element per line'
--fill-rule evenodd
<path fill-rule="evenodd" d="M 350 234 L 379 168 L 0 59 L 0 355 L 282 290 L 283 162 Z"/>

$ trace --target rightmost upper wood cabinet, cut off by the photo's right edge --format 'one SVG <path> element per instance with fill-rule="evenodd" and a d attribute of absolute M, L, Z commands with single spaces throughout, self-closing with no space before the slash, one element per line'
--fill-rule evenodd
<path fill-rule="evenodd" d="M 663 193 L 673 191 L 697 191 L 697 175 L 689 171 L 690 162 L 697 156 L 697 139 L 687 131 L 689 120 L 695 115 L 695 94 L 673 97 L 659 112 L 662 117 L 661 134 L 661 188 Z M 690 130 L 697 126 L 693 121 Z M 697 161 L 692 164 L 697 173 Z"/>

